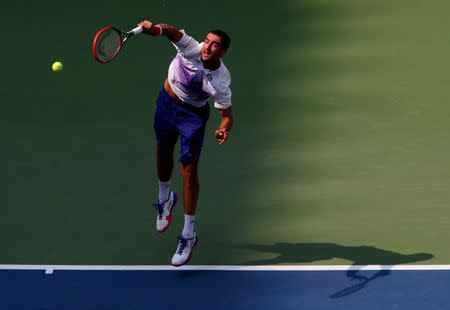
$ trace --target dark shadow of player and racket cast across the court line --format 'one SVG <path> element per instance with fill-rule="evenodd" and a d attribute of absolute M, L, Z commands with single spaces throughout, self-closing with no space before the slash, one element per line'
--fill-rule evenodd
<path fill-rule="evenodd" d="M 278 254 L 274 258 L 249 261 L 249 265 L 299 264 L 320 260 L 341 258 L 352 262 L 346 276 L 358 281 L 332 294 L 330 298 L 340 298 L 353 294 L 380 277 L 388 276 L 390 270 L 386 266 L 415 263 L 433 258 L 429 253 L 401 254 L 379 249 L 373 246 L 344 246 L 336 243 L 285 243 L 274 245 L 248 245 L 247 249 Z M 384 265 L 385 267 L 371 276 L 360 274 L 360 269 L 366 265 Z"/>

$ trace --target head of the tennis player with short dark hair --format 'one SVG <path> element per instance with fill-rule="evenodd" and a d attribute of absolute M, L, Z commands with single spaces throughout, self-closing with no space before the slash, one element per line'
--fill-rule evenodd
<path fill-rule="evenodd" d="M 217 61 L 223 57 L 230 47 L 230 37 L 224 31 L 214 29 L 208 31 L 201 51 L 203 61 Z"/>

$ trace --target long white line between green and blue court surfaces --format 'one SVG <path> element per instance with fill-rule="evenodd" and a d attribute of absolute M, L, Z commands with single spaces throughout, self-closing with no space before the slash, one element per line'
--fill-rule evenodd
<path fill-rule="evenodd" d="M 340 271 L 340 270 L 450 270 L 450 265 L 1 265 L 0 270 L 106 270 L 106 271 L 160 271 L 160 270 L 212 270 L 212 271 Z"/>

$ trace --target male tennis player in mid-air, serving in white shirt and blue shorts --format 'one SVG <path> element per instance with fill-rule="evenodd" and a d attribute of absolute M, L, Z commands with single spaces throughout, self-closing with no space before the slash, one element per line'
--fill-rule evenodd
<path fill-rule="evenodd" d="M 221 30 L 209 31 L 199 43 L 184 30 L 167 24 L 143 21 L 138 24 L 151 36 L 166 36 L 177 54 L 169 66 L 168 77 L 156 102 L 154 130 L 157 140 L 159 197 L 156 230 L 166 231 L 172 221 L 177 195 L 170 188 L 174 148 L 180 137 L 181 175 L 183 178 L 184 227 L 172 265 L 186 264 L 198 242 L 194 229 L 199 196 L 198 161 L 209 119 L 210 97 L 221 114 L 215 131 L 219 144 L 228 140 L 233 125 L 231 111 L 231 77 L 221 58 L 230 46 L 229 36 Z"/>

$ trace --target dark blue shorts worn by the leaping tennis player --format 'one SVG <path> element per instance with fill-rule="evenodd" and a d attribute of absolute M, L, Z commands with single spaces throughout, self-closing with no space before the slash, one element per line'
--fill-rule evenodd
<path fill-rule="evenodd" d="M 200 158 L 205 137 L 206 123 L 209 119 L 209 104 L 201 108 L 172 98 L 161 89 L 156 101 L 153 128 L 160 147 L 171 147 L 181 137 L 179 161 L 189 164 Z"/>

